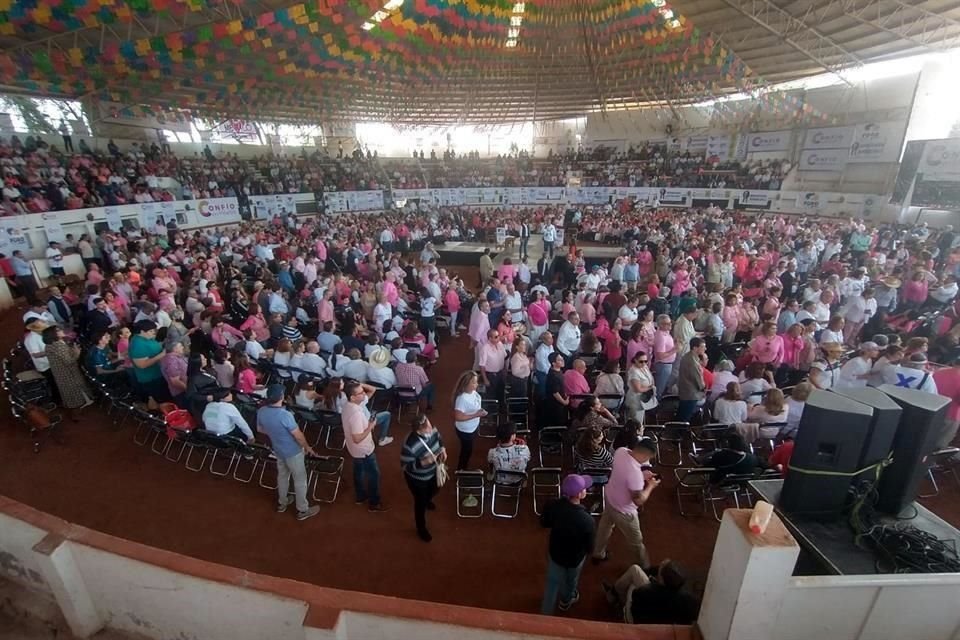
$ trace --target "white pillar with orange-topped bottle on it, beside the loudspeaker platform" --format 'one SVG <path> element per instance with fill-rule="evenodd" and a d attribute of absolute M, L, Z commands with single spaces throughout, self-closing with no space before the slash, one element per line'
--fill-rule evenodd
<path fill-rule="evenodd" d="M 774 514 L 761 535 L 749 509 L 723 512 L 697 625 L 704 640 L 775 638 L 800 547 Z"/>

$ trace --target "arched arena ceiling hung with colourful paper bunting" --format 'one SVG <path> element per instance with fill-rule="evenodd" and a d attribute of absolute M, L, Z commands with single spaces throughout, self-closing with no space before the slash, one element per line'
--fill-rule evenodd
<path fill-rule="evenodd" d="M 960 0 L 0 0 L 0 91 L 318 123 L 552 120 L 960 46 Z"/>

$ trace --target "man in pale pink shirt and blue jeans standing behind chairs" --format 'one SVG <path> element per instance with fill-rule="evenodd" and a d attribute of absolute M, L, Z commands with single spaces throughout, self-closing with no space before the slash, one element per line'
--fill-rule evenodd
<path fill-rule="evenodd" d="M 357 504 L 367 503 L 370 511 L 386 511 L 380 502 L 380 467 L 374 453 L 373 430 L 377 419 L 365 410 L 367 393 L 363 385 L 351 382 L 344 386 L 347 404 L 341 411 L 343 438 L 353 458 L 353 488 Z"/>

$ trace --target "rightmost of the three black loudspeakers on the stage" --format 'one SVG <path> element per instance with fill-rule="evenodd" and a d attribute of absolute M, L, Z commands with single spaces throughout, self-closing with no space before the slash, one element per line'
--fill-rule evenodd
<path fill-rule="evenodd" d="M 880 391 L 903 408 L 893 438 L 893 464 L 880 477 L 877 509 L 899 514 L 917 498 L 927 473 L 927 456 L 936 448 L 950 399 L 935 393 L 885 384 Z"/>

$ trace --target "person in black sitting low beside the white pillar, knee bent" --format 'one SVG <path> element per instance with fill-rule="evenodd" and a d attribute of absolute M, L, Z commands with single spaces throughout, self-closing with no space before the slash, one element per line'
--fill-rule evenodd
<path fill-rule="evenodd" d="M 623 607 L 629 624 L 693 624 L 700 600 L 684 587 L 687 579 L 673 560 L 644 570 L 632 565 L 613 584 L 601 583 L 607 601 Z"/>

